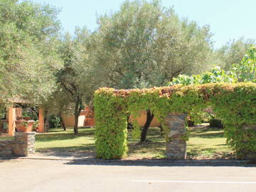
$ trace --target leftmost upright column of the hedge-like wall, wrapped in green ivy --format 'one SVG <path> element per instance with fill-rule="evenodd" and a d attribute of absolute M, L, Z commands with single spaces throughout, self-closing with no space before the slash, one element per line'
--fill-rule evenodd
<path fill-rule="evenodd" d="M 95 106 L 97 157 L 120 159 L 126 156 L 127 116 L 119 108 L 122 107 L 122 98 L 112 97 L 111 92 L 99 92 Z"/>

